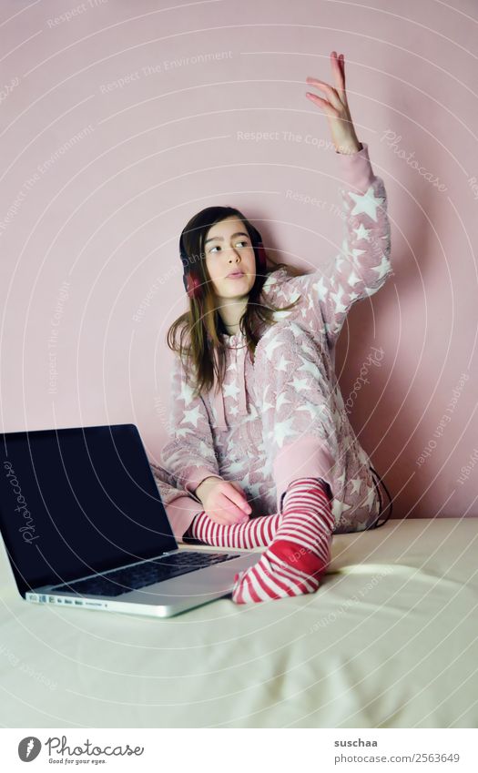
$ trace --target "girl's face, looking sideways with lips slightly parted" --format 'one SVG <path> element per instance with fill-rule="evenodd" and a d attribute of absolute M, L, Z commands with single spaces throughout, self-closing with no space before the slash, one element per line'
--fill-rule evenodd
<path fill-rule="evenodd" d="M 248 230 L 239 218 L 220 220 L 208 229 L 204 242 L 206 266 L 219 298 L 249 295 L 256 280 L 256 259 Z M 239 278 L 228 277 L 241 271 Z"/>

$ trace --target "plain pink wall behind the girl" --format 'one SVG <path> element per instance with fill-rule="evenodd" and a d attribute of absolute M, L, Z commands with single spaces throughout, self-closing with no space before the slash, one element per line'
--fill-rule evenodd
<path fill-rule="evenodd" d="M 3 430 L 135 422 L 158 461 L 189 217 L 237 206 L 304 270 L 341 246 L 329 127 L 305 97 L 336 49 L 394 266 L 342 332 L 344 401 L 395 516 L 478 515 L 477 8 L 376 5 L 4 0 Z"/>

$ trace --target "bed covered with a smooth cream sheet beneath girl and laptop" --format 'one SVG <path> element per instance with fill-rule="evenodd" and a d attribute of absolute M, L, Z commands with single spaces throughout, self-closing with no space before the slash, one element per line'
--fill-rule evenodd
<path fill-rule="evenodd" d="M 337 534 L 316 594 L 169 619 L 30 605 L 2 544 L 0 722 L 477 727 L 477 524 Z"/>

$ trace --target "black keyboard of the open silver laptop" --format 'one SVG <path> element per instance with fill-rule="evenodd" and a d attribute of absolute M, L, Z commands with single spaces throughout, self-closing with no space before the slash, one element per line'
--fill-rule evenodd
<path fill-rule="evenodd" d="M 168 555 L 158 561 L 146 561 L 126 569 L 117 569 L 107 575 L 97 575 L 74 583 L 56 585 L 55 590 L 75 591 L 80 595 L 121 595 L 147 585 L 170 580 L 178 575 L 187 575 L 206 566 L 220 564 L 238 558 L 239 553 L 207 553 L 206 551 L 185 550 Z"/>

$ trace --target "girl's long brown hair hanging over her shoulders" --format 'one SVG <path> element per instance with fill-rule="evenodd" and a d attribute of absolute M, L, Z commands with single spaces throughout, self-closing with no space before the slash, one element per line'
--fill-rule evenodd
<path fill-rule="evenodd" d="M 181 314 L 170 326 L 167 334 L 168 347 L 178 353 L 183 361 L 183 368 L 187 379 L 194 387 L 194 397 L 198 397 L 203 391 L 209 392 L 214 385 L 214 373 L 217 370 L 214 361 L 214 350 L 218 351 L 219 372 L 216 376 L 219 388 L 224 381 L 226 369 L 226 347 L 219 336 L 226 333 L 226 328 L 216 308 L 216 294 L 214 292 L 212 281 L 206 265 L 206 255 L 204 252 L 204 240 L 206 239 L 208 229 L 221 220 L 237 217 L 244 223 L 254 248 L 256 256 L 256 280 L 249 291 L 249 300 L 240 320 L 240 329 L 245 335 L 247 347 L 252 361 L 259 341 L 258 329 L 261 325 L 275 325 L 274 312 L 292 309 L 300 298 L 294 300 L 289 306 L 281 308 L 270 304 L 270 307 L 264 306 L 260 300 L 260 294 L 264 282 L 270 273 L 279 269 L 285 269 L 291 277 L 300 276 L 302 271 L 287 263 L 275 263 L 267 253 L 263 254 L 272 264 L 271 268 L 266 269 L 265 273 L 258 273 L 259 265 L 259 243 L 262 238 L 252 223 L 239 211 L 233 207 L 208 207 L 202 209 L 197 215 L 194 215 L 181 234 L 180 245 L 188 256 L 188 262 L 194 263 L 194 256 L 198 256 L 198 266 L 195 269 L 200 277 L 201 291 L 198 298 L 188 297 L 189 308 L 184 314 Z M 182 256 L 181 256 L 182 257 Z M 177 338 L 179 337 L 179 341 Z M 191 371 L 194 370 L 194 375 Z"/>

